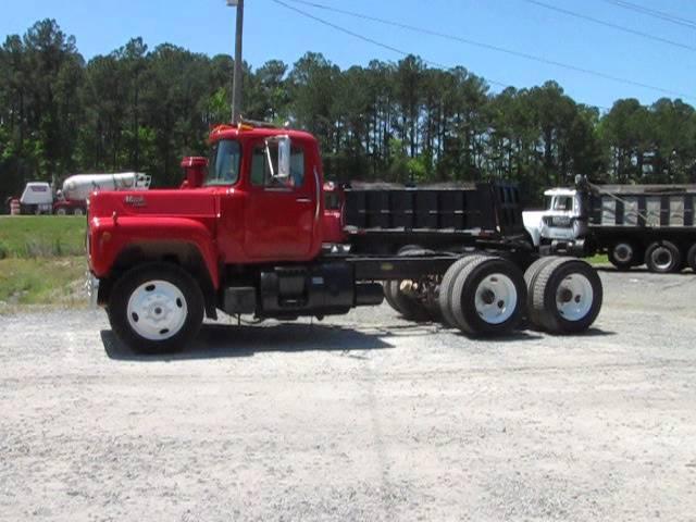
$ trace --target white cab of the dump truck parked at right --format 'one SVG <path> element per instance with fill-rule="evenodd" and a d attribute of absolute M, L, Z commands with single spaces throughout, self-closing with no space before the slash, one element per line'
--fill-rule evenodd
<path fill-rule="evenodd" d="M 545 209 L 523 212 L 524 227 L 536 248 L 582 253 L 587 235 L 585 192 L 551 188 L 544 192 Z"/>

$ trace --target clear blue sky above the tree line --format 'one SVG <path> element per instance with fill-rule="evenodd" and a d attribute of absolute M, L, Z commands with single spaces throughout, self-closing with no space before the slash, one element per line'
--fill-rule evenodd
<path fill-rule="evenodd" d="M 456 35 L 557 62 L 649 84 L 692 98 L 696 104 L 696 50 L 682 49 L 566 16 L 525 0 L 315 0 L 403 24 Z M 632 0 L 635 4 L 696 21 L 693 0 Z M 171 42 L 210 55 L 232 53 L 234 9 L 225 0 L 4 0 L 0 35 L 24 34 L 37 20 L 53 17 L 77 39 L 85 58 L 105 54 L 130 37 L 150 48 Z M 627 11 L 607 0 L 545 0 L 635 30 L 696 48 L 696 29 Z M 660 92 L 584 73 L 481 49 L 364 20 L 298 8 L 355 33 L 448 66 L 462 65 L 487 79 L 529 87 L 558 80 L 580 102 L 610 107 L 617 98 L 651 103 Z M 341 67 L 400 54 L 341 34 L 275 4 L 246 0 L 245 60 L 295 62 L 306 51 L 322 52 Z M 493 90 L 499 90 L 497 85 Z"/>

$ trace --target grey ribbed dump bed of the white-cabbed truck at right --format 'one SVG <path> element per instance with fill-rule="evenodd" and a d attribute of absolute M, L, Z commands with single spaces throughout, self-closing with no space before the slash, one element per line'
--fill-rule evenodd
<path fill-rule="evenodd" d="M 589 197 L 593 227 L 694 227 L 696 185 L 604 185 Z"/>

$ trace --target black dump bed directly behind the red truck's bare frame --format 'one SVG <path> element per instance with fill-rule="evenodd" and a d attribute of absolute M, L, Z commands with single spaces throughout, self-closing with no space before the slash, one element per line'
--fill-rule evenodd
<path fill-rule="evenodd" d="M 353 186 L 346 189 L 345 215 L 351 244 L 368 251 L 519 240 L 524 234 L 520 192 L 504 183 Z"/>

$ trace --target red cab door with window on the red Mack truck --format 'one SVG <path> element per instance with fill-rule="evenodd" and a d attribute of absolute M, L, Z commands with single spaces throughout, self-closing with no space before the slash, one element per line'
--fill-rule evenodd
<path fill-rule="evenodd" d="M 279 179 L 277 142 L 252 144 L 249 198 L 245 210 L 245 250 L 253 260 L 300 261 L 311 254 L 314 235 L 315 176 L 301 142 L 290 147 L 290 176 Z"/>

